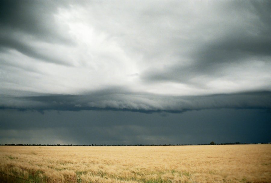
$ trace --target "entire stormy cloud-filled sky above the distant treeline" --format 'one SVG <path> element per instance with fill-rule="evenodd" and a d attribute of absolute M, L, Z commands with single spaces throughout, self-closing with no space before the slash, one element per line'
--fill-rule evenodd
<path fill-rule="evenodd" d="M 0 1 L 0 144 L 271 142 L 270 1 Z"/>

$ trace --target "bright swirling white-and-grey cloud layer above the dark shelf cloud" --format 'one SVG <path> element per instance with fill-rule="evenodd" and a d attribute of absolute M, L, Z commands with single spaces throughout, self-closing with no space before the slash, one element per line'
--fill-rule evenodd
<path fill-rule="evenodd" d="M 271 90 L 269 1 L 1 4 L 1 93 Z"/>

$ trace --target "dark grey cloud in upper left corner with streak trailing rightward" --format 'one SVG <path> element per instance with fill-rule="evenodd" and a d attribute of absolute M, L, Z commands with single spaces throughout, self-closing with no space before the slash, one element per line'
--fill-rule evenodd
<path fill-rule="evenodd" d="M 64 60 L 42 53 L 33 43 L 71 44 L 65 27 L 55 24 L 57 8 L 67 7 L 62 1 L 1 1 L 0 50 L 18 52 L 45 62 L 64 64 Z"/>

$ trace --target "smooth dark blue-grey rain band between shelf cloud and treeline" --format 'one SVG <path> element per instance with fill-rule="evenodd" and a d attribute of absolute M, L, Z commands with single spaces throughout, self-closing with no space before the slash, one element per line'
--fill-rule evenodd
<path fill-rule="evenodd" d="M 46 111 L 41 114 L 1 110 L 0 144 L 268 142 L 271 140 L 270 114 L 260 109 L 209 109 L 164 117 L 160 113 L 123 111 Z"/>

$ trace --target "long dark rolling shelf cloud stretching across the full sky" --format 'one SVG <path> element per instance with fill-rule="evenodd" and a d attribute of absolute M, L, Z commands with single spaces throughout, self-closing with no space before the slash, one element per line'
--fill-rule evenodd
<path fill-rule="evenodd" d="M 89 95 L 45 95 L 3 97 L 1 109 L 20 110 L 120 110 L 134 112 L 173 112 L 202 109 L 270 109 L 271 92 L 247 92 L 206 96 L 155 96 L 102 90 Z"/>

